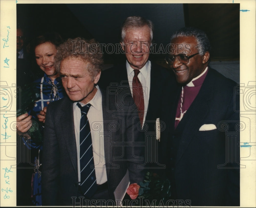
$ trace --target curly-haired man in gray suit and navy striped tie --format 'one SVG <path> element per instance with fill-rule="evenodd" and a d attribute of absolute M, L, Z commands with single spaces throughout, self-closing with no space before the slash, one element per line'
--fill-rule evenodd
<path fill-rule="evenodd" d="M 143 169 L 138 168 L 143 149 L 134 146 L 144 136 L 137 128 L 134 101 L 124 98 L 120 114 L 115 96 L 97 86 L 102 64 L 95 40 L 68 39 L 58 48 L 55 67 L 68 97 L 47 108 L 43 205 L 74 206 L 90 200 L 99 200 L 94 205 L 105 205 L 107 200 L 115 204 L 121 198 L 114 191 L 124 178 L 127 183 L 143 179 Z"/>

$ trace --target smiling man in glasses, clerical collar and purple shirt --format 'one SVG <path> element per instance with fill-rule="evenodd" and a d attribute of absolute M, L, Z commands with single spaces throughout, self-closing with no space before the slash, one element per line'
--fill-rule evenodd
<path fill-rule="evenodd" d="M 210 49 L 205 32 L 196 28 L 171 37 L 166 62 L 178 84 L 170 112 L 162 117 L 167 128 L 161 132 L 161 154 L 172 199 L 192 206 L 239 206 L 237 85 L 208 66 Z"/>

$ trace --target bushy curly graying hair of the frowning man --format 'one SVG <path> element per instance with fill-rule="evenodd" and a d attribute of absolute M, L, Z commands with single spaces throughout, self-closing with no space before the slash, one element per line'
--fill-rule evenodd
<path fill-rule="evenodd" d="M 60 63 L 67 57 L 80 58 L 86 62 L 89 62 L 87 69 L 92 77 L 101 71 L 103 58 L 100 51 L 100 45 L 95 39 L 85 40 L 83 38 L 68 39 L 62 43 L 58 48 L 58 52 L 55 56 L 55 69 L 60 72 Z"/>

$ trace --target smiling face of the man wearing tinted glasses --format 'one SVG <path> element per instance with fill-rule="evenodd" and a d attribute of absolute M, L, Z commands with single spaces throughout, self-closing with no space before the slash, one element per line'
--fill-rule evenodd
<path fill-rule="evenodd" d="M 194 37 L 177 37 L 174 38 L 171 43 L 172 45 L 170 45 L 169 51 L 172 53 L 170 55 L 185 53 L 187 56 L 191 56 L 198 53 L 196 48 L 197 41 Z M 188 50 L 188 44 L 191 45 L 191 50 Z M 179 63 L 177 59 L 175 59 L 173 65 L 170 65 L 170 68 L 173 70 L 178 83 L 188 84 L 193 78 L 196 78 L 205 70 L 207 67 L 207 64 L 205 64 L 206 62 L 204 56 L 197 54 L 190 58 L 187 64 Z"/>

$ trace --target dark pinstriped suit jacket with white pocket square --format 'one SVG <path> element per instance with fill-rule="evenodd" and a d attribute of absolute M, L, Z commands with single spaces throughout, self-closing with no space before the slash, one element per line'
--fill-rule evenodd
<path fill-rule="evenodd" d="M 234 111 L 239 97 L 234 99 L 235 86 L 209 69 L 197 97 L 174 129 L 181 92 L 177 85 L 176 102 L 161 116 L 167 128 L 160 142 L 173 199 L 191 200 L 192 206 L 239 206 L 239 112 Z M 204 124 L 217 129 L 199 131 Z"/>

